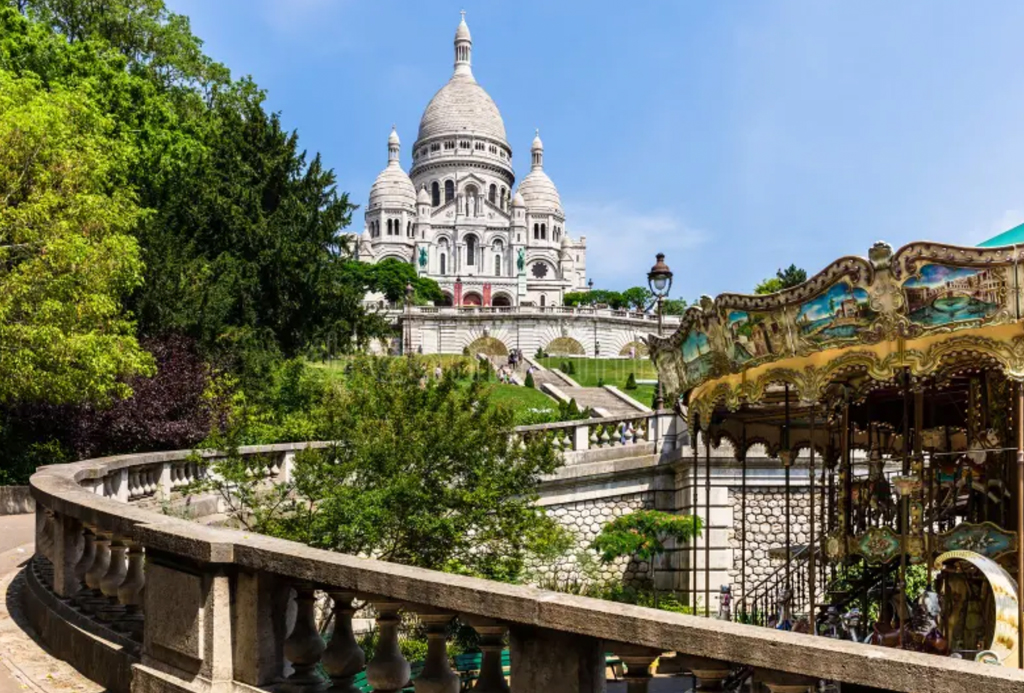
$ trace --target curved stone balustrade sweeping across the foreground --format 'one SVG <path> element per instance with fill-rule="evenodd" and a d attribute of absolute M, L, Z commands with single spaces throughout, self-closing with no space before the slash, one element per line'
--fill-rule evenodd
<path fill-rule="evenodd" d="M 303 446 L 242 453 L 270 456 L 270 473 L 287 478 Z M 460 690 L 444 648 L 457 615 L 481 638 L 479 693 L 509 690 L 506 638 L 511 690 L 524 693 L 603 691 L 607 652 L 625 661 L 634 693 L 648 690 L 658 657 L 660 670 L 692 672 L 703 690 L 752 670 L 772 691 L 809 690 L 818 680 L 931 693 L 1009 693 L 1024 683 L 1017 670 L 357 558 L 153 508 L 173 504 L 181 482 L 204 469 L 175 451 L 46 467 L 32 477 L 29 610 L 55 651 L 111 690 L 130 681 L 131 690 L 154 693 L 311 693 L 327 685 L 323 670 L 335 691 L 358 690 L 353 678 L 364 675 L 377 691 L 396 691 L 413 676 L 398 649 L 401 611 L 428 632 L 415 677 L 421 693 Z M 334 603 L 330 644 L 316 629 L 316 592 Z M 373 605 L 379 627 L 368 663 L 352 635 L 354 600 Z"/>

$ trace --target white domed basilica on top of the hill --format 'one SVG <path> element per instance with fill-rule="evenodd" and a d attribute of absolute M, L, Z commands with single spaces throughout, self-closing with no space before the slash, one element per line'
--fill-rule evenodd
<path fill-rule="evenodd" d="M 423 112 L 409 173 L 398 133 L 388 137 L 357 256 L 415 264 L 440 285 L 447 305 L 560 305 L 566 293 L 587 288 L 586 236 L 573 240 L 565 228 L 540 133 L 529 173 L 515 188 L 505 123 L 473 77 L 472 50 L 463 16 L 455 72 Z"/>

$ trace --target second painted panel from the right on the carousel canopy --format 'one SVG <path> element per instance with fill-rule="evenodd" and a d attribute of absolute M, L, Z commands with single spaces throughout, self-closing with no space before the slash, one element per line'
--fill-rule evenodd
<path fill-rule="evenodd" d="M 797 328 L 802 339 L 816 345 L 856 341 L 877 316 L 866 291 L 841 281 L 801 304 Z"/>

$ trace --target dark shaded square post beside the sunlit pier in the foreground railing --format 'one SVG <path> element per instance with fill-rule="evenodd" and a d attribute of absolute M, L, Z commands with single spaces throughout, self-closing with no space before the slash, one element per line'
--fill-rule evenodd
<path fill-rule="evenodd" d="M 236 580 L 234 680 L 270 686 L 285 669 L 288 614 L 295 604 L 288 583 L 273 573 L 240 571 Z"/>

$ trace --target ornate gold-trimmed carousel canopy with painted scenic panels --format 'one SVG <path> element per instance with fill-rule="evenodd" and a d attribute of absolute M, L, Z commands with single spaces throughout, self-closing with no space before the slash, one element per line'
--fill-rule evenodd
<path fill-rule="evenodd" d="M 969 370 L 1024 380 L 1022 260 L 1014 246 L 879 243 L 776 294 L 702 297 L 675 334 L 648 338 L 651 356 L 698 417 L 770 404 L 780 386 L 787 400 L 816 402 L 836 387 Z"/>

